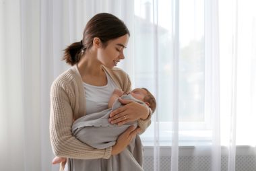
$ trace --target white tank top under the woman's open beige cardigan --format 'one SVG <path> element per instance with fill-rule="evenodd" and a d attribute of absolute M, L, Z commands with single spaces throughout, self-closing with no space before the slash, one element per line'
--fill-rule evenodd
<path fill-rule="evenodd" d="M 92 86 L 83 82 L 86 94 L 86 114 L 101 112 L 108 108 L 108 100 L 117 85 L 108 73 L 106 73 L 106 78 L 108 83 L 105 86 Z"/>

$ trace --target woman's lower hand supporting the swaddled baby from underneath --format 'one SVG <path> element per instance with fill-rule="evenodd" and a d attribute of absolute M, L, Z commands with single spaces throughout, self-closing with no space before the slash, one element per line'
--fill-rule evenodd
<path fill-rule="evenodd" d="M 123 151 L 140 131 L 141 129 L 139 127 L 130 126 L 125 132 L 119 135 L 116 144 L 112 147 L 111 155 L 117 155 Z"/>

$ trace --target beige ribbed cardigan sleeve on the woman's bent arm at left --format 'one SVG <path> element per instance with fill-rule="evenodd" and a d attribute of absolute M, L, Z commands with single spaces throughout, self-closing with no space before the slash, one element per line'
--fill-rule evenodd
<path fill-rule="evenodd" d="M 73 94 L 68 84 L 60 79 L 51 87 L 50 137 L 53 153 L 59 157 L 75 159 L 110 158 L 112 147 L 94 149 L 71 135 Z"/>

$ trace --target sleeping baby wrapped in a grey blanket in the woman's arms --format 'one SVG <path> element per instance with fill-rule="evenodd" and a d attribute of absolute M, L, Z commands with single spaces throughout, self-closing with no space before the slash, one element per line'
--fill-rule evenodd
<path fill-rule="evenodd" d="M 121 126 L 112 125 L 108 122 L 110 112 L 123 106 L 118 98 L 134 100 L 135 102 L 145 104 L 151 108 L 152 113 L 156 110 L 156 100 L 146 88 L 135 88 L 127 94 L 115 89 L 108 100 L 108 109 L 78 118 L 72 126 L 73 135 L 92 147 L 104 149 L 115 145 L 117 137 L 129 126 L 135 125 L 137 127 L 137 122 L 130 122 Z M 100 133 L 100 135 L 96 136 L 95 133 Z M 101 137 L 101 139 L 97 137 Z M 53 164 L 59 164 L 61 162 L 65 163 L 66 158 L 55 157 L 52 161 Z"/>

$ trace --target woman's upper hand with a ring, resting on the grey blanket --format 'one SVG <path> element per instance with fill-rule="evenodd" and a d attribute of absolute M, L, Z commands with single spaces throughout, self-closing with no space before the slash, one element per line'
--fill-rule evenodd
<path fill-rule="evenodd" d="M 119 102 L 125 104 L 110 113 L 108 121 L 111 124 L 117 123 L 117 125 L 123 125 L 125 123 L 139 120 L 139 118 L 145 120 L 148 118 L 149 110 L 148 107 L 134 102 L 133 100 L 123 100 L 119 98 Z"/>

